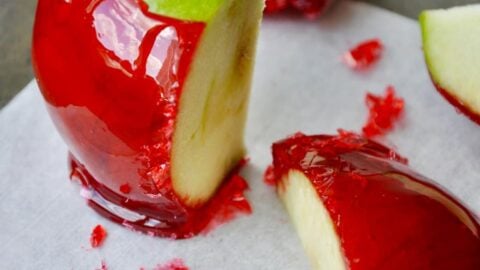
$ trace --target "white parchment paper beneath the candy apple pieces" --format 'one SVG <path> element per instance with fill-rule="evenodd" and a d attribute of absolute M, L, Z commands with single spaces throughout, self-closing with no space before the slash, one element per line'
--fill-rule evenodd
<path fill-rule="evenodd" d="M 355 72 L 341 55 L 357 42 L 385 43 L 380 63 Z M 254 212 L 206 236 L 171 241 L 133 233 L 85 206 L 67 179 L 67 149 L 54 130 L 35 82 L 0 113 L 0 269 L 153 268 L 182 258 L 193 270 L 309 269 L 288 216 L 262 182 L 270 145 L 296 131 L 360 130 L 365 91 L 392 84 L 406 100 L 401 126 L 386 143 L 480 213 L 480 128 L 456 113 L 431 84 L 413 20 L 342 1 L 319 21 L 265 19 L 250 105 L 247 146 Z M 109 236 L 89 249 L 103 224 Z"/>

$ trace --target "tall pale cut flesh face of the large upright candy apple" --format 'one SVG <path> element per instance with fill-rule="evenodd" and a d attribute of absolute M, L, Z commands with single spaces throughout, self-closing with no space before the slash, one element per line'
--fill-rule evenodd
<path fill-rule="evenodd" d="M 173 189 L 190 206 L 207 201 L 245 155 L 243 134 L 264 3 L 221 2 L 197 47 L 173 136 Z"/>

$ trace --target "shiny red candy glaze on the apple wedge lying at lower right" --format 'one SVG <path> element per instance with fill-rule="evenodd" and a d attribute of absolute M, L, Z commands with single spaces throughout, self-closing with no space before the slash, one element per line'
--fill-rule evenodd
<path fill-rule="evenodd" d="M 335 225 L 347 269 L 480 269 L 478 219 L 404 162 L 353 133 L 273 145 L 277 181 L 289 170 L 310 179 Z"/>

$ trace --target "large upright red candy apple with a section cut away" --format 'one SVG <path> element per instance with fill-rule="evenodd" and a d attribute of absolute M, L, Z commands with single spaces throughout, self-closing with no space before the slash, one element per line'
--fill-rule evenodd
<path fill-rule="evenodd" d="M 94 191 L 100 212 L 174 237 L 206 225 L 207 202 L 245 154 L 263 7 L 262 0 L 39 1 L 37 80 L 73 175 Z"/>

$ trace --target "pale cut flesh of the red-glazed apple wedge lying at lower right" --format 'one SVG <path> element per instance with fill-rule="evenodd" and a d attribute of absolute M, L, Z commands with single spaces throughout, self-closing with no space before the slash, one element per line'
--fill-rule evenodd
<path fill-rule="evenodd" d="M 279 184 L 279 195 L 313 269 L 346 270 L 333 221 L 307 176 L 290 170 Z"/>

